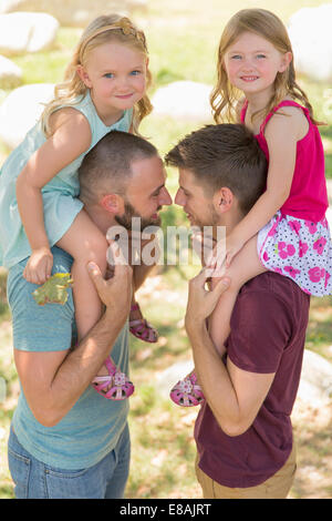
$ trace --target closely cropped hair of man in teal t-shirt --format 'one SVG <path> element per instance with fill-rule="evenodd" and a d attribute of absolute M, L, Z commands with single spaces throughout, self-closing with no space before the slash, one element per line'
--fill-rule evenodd
<path fill-rule="evenodd" d="M 157 149 L 138 135 L 111 131 L 85 155 L 80 168 L 80 197 L 92 202 L 112 192 L 123 195 L 134 161 L 158 155 Z"/>

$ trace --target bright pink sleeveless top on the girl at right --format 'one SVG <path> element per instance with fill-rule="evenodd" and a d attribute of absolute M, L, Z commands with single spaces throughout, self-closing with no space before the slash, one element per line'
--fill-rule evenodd
<path fill-rule="evenodd" d="M 302 140 L 298 141 L 295 168 L 290 194 L 280 211 L 284 215 L 319 222 L 324 217 L 329 207 L 324 151 L 319 130 L 312 123 L 308 109 L 291 100 L 282 101 L 267 115 L 260 126 L 259 134 L 256 134 L 256 139 L 269 161 L 269 149 L 264 137 L 264 129 L 274 112 L 281 106 L 298 106 L 302 109 L 309 123 L 309 131 Z M 241 110 L 240 118 L 242 123 L 245 123 L 247 108 L 248 101 L 245 102 Z"/>

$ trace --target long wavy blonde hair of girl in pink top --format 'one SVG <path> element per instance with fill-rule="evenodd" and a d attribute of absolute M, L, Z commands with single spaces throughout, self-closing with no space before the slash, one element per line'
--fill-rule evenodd
<path fill-rule="evenodd" d="M 237 103 L 242 93 L 228 81 L 224 58 L 229 45 L 243 32 L 252 32 L 264 38 L 282 54 L 292 53 L 287 29 L 276 14 L 266 9 L 243 9 L 237 12 L 225 27 L 218 49 L 217 83 L 210 96 L 216 123 L 237 121 Z M 277 73 L 274 91 L 267 106 L 262 111 L 253 113 L 251 119 L 253 120 L 258 115 L 266 118 L 287 95 L 299 100 L 309 110 L 312 122 L 319 124 L 313 119 L 313 110 L 307 94 L 295 82 L 293 58 L 284 72 Z"/>

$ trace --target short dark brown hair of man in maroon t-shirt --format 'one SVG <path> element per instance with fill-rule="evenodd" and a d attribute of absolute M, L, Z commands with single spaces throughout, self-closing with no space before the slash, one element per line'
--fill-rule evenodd
<path fill-rule="evenodd" d="M 189 170 L 209 196 L 227 186 L 245 214 L 267 182 L 264 153 L 242 124 L 206 125 L 191 132 L 168 152 L 165 161 Z"/>

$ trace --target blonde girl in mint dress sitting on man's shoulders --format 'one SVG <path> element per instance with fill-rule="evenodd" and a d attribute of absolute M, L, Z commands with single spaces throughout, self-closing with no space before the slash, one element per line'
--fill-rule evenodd
<path fill-rule="evenodd" d="M 131 95 L 121 95 L 124 82 Z M 86 263 L 94 260 L 105 274 L 108 244 L 77 198 L 77 170 L 110 131 L 137 131 L 152 110 L 149 82 L 144 33 L 127 18 L 98 17 L 83 32 L 55 99 L 1 168 L 1 264 L 10 268 L 30 257 L 23 276 L 43 284 L 51 275 L 51 247 L 66 251 L 74 259 L 79 340 L 102 313 Z M 111 358 L 101 372 L 94 385 L 106 398 L 124 399 L 133 392 Z"/>

